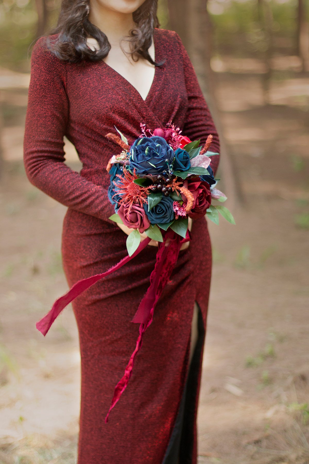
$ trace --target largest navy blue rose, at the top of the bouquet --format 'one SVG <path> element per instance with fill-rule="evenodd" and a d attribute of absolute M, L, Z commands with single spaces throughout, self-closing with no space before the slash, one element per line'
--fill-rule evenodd
<path fill-rule="evenodd" d="M 143 137 L 137 139 L 130 148 L 129 168 L 136 174 L 162 173 L 174 159 L 174 150 L 163 137 Z"/>

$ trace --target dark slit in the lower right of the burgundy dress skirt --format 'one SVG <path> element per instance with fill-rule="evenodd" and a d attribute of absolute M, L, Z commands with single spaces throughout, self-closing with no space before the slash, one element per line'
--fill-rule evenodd
<path fill-rule="evenodd" d="M 196 402 L 205 339 L 202 311 L 198 303 L 195 303 L 198 308 L 198 337 L 177 418 L 162 464 L 192 464 Z"/>

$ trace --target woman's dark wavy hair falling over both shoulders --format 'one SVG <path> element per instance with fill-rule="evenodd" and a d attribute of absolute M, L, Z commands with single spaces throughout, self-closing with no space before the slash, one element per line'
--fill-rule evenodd
<path fill-rule="evenodd" d="M 141 56 L 151 64 L 159 66 L 161 63 L 153 61 L 148 52 L 153 30 L 159 27 L 157 9 L 158 0 L 145 0 L 134 11 L 133 20 L 136 27 L 129 32 L 130 35 L 125 40 L 130 42 L 134 61 Z M 69 63 L 80 63 L 83 60 L 101 61 L 108 55 L 111 45 L 106 34 L 89 21 L 89 11 L 89 0 L 62 0 L 57 26 L 50 31 L 50 35 L 57 34 L 57 38 L 46 38 L 48 48 L 57 58 Z M 91 50 L 88 47 L 87 37 L 93 37 L 98 41 L 99 50 Z"/>

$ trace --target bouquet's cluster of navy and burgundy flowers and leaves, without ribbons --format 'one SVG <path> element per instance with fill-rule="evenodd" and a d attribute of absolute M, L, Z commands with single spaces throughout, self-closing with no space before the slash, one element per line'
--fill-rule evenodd
<path fill-rule="evenodd" d="M 212 200 L 227 200 L 215 188 L 219 179 L 214 179 L 210 167 L 211 157 L 218 155 L 208 151 L 212 135 L 202 147 L 200 140 L 191 142 L 171 123 L 153 132 L 145 124 L 140 127 L 141 135 L 131 146 L 117 128 L 120 136 L 106 135 L 122 148 L 107 165 L 111 177 L 108 198 L 115 208 L 109 219 L 133 229 L 126 240 L 129 256 L 139 246 L 139 232 L 163 242 L 161 230 L 170 228 L 186 238 L 188 218 L 205 214 L 218 224 L 221 213 L 234 224 L 225 206 L 211 205 Z"/>

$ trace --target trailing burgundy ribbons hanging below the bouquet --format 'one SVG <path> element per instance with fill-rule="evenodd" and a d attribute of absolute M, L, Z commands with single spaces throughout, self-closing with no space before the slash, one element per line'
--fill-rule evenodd
<path fill-rule="evenodd" d="M 181 238 L 178 234 L 172 230 L 169 230 L 164 233 L 164 241 L 158 243 L 156 264 L 154 270 L 151 272 L 150 286 L 148 287 L 148 290 L 142 301 L 139 303 L 139 308 L 132 319 L 132 322 L 140 324 L 139 337 L 136 342 L 136 347 L 126 366 L 125 374 L 115 387 L 112 403 L 105 418 L 106 423 L 108 422 L 109 413 L 119 401 L 121 394 L 125 391 L 128 385 L 132 375 L 135 356 L 142 346 L 143 335 L 152 322 L 155 306 L 158 303 L 158 299 L 160 298 L 162 291 L 170 278 L 170 274 L 177 262 L 180 247 L 183 243 L 188 242 L 190 239 L 189 231 L 187 231 L 186 238 Z M 57 316 L 59 316 L 61 311 L 69 303 L 71 303 L 76 298 L 76 296 L 79 296 L 83 291 L 91 287 L 91 285 L 94 285 L 96 282 L 98 282 L 98 280 L 108 276 L 124 264 L 131 261 L 132 258 L 138 255 L 139 252 L 149 244 L 150 240 L 151 239 L 148 237 L 145 238 L 139 244 L 138 249 L 132 254 L 132 256 L 126 256 L 125 258 L 121 259 L 119 263 L 108 269 L 108 271 L 101 274 L 96 274 L 95 276 L 87 277 L 76 282 L 67 293 L 65 293 L 63 296 L 60 296 L 60 298 L 55 301 L 46 316 L 44 316 L 36 323 L 37 329 L 45 336 Z"/>

